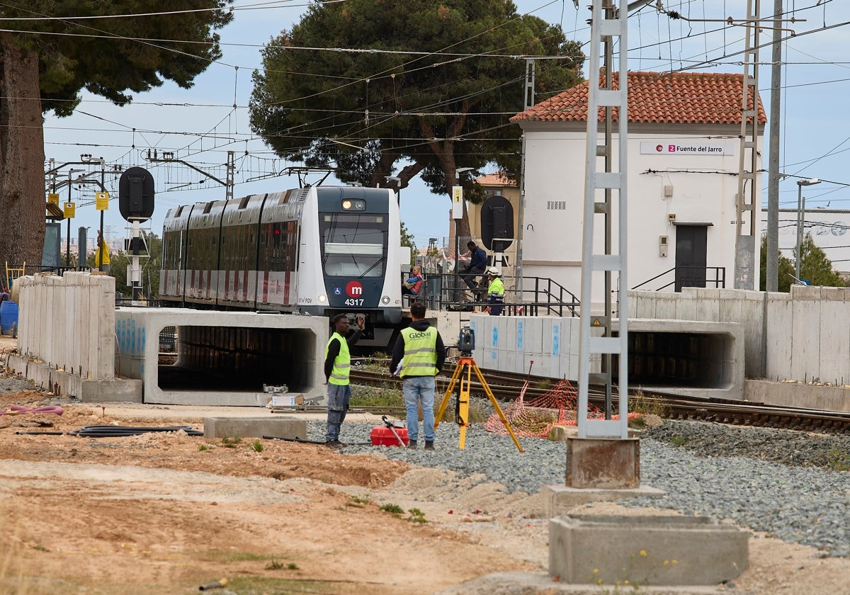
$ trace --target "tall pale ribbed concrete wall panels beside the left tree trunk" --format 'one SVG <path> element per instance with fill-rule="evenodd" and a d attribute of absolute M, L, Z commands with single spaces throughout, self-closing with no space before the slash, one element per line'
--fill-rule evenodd
<path fill-rule="evenodd" d="M 37 275 L 20 287 L 18 351 L 93 380 L 115 377 L 115 278 L 89 273 Z"/>

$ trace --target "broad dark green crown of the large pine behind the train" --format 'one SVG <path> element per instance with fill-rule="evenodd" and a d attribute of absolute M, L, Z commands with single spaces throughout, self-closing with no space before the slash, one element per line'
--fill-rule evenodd
<path fill-rule="evenodd" d="M 508 118 L 524 108 L 522 55 L 563 56 L 537 62 L 538 98 L 581 81 L 580 45 L 509 1 L 314 3 L 263 48 L 252 128 L 278 155 L 333 164 L 343 181 L 386 185 L 395 175 L 405 188 L 421 173 L 445 196 L 457 167 L 496 162 L 519 173 L 520 133 Z M 472 179 L 462 185 L 475 199 Z"/>

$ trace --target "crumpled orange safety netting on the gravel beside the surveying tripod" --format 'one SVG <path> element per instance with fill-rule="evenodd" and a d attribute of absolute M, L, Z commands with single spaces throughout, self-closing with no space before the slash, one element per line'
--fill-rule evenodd
<path fill-rule="evenodd" d="M 575 426 L 578 394 L 569 380 L 559 380 L 546 393 L 526 403 L 525 390 L 528 386 L 529 383 L 525 382 L 522 391 L 519 393 L 519 398 L 502 411 L 507 422 L 511 424 L 514 434 L 532 438 L 546 438 L 553 426 Z M 628 417 L 631 420 L 639 416 L 638 413 L 630 413 Z M 605 412 L 588 403 L 587 418 L 604 419 Z M 611 419 L 620 419 L 620 416 L 611 416 Z M 499 414 L 496 412 L 487 418 L 485 428 L 492 433 L 507 433 L 505 424 L 501 422 Z"/>

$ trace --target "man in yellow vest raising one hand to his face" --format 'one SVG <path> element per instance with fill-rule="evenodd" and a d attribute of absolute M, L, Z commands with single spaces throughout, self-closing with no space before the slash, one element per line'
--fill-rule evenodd
<path fill-rule="evenodd" d="M 351 353 L 348 348 L 360 341 L 365 329 L 365 319 L 357 317 L 357 330 L 346 338 L 350 323 L 346 314 L 333 317 L 333 334 L 325 347 L 325 384 L 327 385 L 327 432 L 325 445 L 331 448 L 345 446 L 339 441 L 339 430 L 345 421 L 348 404 L 351 401 L 351 387 L 348 385 L 348 372 L 351 371 Z"/>

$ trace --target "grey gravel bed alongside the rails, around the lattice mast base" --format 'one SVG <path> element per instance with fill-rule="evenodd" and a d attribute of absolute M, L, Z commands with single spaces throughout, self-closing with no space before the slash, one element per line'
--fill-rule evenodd
<path fill-rule="evenodd" d="M 309 424 L 312 439 L 325 426 Z M 496 481 L 507 491 L 533 494 L 543 484 L 564 484 L 563 442 L 519 439 L 467 428 L 460 450 L 459 427 L 440 423 L 437 450 L 371 446 L 371 426 L 343 424 L 346 453 L 380 450 L 391 459 L 445 467 L 479 482 Z M 420 439 L 422 435 L 420 433 Z M 641 436 L 641 483 L 659 498 L 621 501 L 626 507 L 658 507 L 688 515 L 732 519 L 783 541 L 816 547 L 824 557 L 850 556 L 850 436 L 789 430 L 666 421 Z"/>

